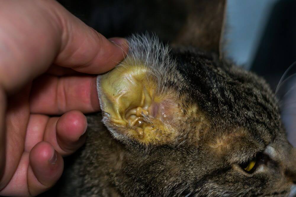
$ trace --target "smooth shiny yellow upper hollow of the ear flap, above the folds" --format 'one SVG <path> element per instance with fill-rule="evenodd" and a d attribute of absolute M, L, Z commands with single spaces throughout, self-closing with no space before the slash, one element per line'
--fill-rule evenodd
<path fill-rule="evenodd" d="M 126 109 L 142 104 L 143 85 L 137 79 L 143 78 L 144 72 L 144 68 L 133 70 L 131 66 L 118 66 L 102 76 L 102 110 L 109 113 L 114 122 L 125 125 Z"/>

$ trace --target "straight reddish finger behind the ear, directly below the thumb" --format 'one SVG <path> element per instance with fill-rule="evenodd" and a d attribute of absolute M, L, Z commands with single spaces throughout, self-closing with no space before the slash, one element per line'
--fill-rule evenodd
<path fill-rule="evenodd" d="M 100 109 L 96 77 L 42 75 L 33 82 L 30 95 L 32 113 L 62 114 L 74 109 L 83 113 Z"/>

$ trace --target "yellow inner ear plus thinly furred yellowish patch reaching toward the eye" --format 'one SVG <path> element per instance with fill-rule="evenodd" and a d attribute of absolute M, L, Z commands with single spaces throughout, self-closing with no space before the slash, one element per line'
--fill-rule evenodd
<path fill-rule="evenodd" d="M 196 105 L 182 106 L 176 91 L 156 91 L 157 79 L 128 60 L 97 78 L 103 122 L 126 143 L 197 143 L 207 121 Z"/>

